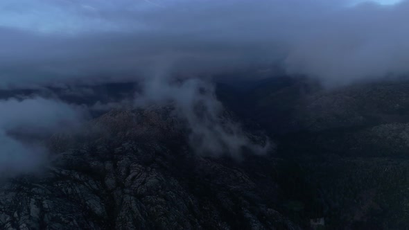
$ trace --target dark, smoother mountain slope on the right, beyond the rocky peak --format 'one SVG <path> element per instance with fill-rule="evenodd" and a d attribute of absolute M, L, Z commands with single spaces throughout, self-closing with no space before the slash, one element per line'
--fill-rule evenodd
<path fill-rule="evenodd" d="M 277 157 L 302 170 L 328 229 L 409 227 L 408 81 L 324 89 L 275 78 L 236 93 L 245 105 L 221 98 L 248 126 L 264 127 Z"/>

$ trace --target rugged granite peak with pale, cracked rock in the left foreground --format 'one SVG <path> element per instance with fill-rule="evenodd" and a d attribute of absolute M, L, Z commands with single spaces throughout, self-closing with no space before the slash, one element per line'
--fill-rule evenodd
<path fill-rule="evenodd" d="M 299 229 L 275 211 L 274 159 L 200 157 L 182 127 L 162 108 L 55 134 L 44 172 L 1 182 L 0 229 Z"/>

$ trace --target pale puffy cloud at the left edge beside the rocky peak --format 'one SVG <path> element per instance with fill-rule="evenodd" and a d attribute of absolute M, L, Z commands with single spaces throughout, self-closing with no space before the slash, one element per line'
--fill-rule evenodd
<path fill-rule="evenodd" d="M 46 163 L 46 148 L 30 138 L 72 127 L 82 112 L 45 98 L 0 100 L 0 173 L 3 176 L 32 172 Z M 27 137 L 30 137 L 27 139 Z"/>

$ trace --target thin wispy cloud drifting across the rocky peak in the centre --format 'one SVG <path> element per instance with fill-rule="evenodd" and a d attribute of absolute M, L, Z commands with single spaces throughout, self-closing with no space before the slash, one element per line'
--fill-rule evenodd
<path fill-rule="evenodd" d="M 251 141 L 241 126 L 232 121 L 209 82 L 199 79 L 166 82 L 157 77 L 145 83 L 136 105 L 173 105 L 175 114 L 186 122 L 189 143 L 198 154 L 241 157 L 243 148 L 255 154 L 265 154 L 271 149 L 268 141 L 264 144 Z"/>

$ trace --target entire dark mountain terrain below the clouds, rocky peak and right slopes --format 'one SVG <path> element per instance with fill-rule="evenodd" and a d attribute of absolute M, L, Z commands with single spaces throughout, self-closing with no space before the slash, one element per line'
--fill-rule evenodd
<path fill-rule="evenodd" d="M 110 102 L 132 91 L 54 94 L 94 105 L 98 92 Z M 325 89 L 283 76 L 220 82 L 216 93 L 226 118 L 275 150 L 207 157 L 172 105 L 100 111 L 46 141 L 41 172 L 3 179 L 0 229 L 409 227 L 409 82 Z"/>

